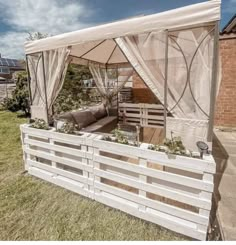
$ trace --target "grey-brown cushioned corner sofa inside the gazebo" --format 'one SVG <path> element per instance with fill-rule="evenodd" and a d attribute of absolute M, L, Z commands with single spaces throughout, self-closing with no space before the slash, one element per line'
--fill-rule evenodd
<path fill-rule="evenodd" d="M 107 113 L 103 104 L 59 114 L 57 120 L 77 124 L 80 131 L 90 133 L 108 133 L 116 128 L 118 122 L 117 109 L 110 109 Z"/>

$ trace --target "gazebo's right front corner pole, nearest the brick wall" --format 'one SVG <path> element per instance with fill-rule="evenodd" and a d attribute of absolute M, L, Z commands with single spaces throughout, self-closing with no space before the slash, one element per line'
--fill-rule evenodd
<path fill-rule="evenodd" d="M 219 21 L 215 23 L 214 31 L 214 47 L 213 47 L 213 63 L 211 74 L 211 95 L 210 95 L 210 115 L 207 141 L 212 142 L 213 129 L 214 129 L 214 116 L 215 116 L 215 103 L 216 103 L 216 86 L 217 86 L 217 68 L 219 62 Z"/>

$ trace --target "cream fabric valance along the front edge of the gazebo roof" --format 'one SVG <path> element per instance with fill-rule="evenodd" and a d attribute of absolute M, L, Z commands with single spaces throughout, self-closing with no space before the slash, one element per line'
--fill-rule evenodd
<path fill-rule="evenodd" d="M 25 52 L 26 54 L 30 54 L 65 46 L 84 44 L 84 47 L 80 46 L 80 52 L 82 53 L 83 48 L 85 51 L 87 48 L 96 46 L 98 41 L 106 39 L 166 29 L 183 29 L 199 24 L 203 25 L 204 23 L 220 20 L 220 4 L 220 0 L 212 0 L 158 14 L 126 19 L 33 42 L 26 42 Z M 110 42 L 106 44 L 107 46 L 112 46 Z M 74 50 L 78 49 L 75 48 Z M 74 50 L 71 50 L 72 55 L 77 52 Z M 105 46 L 103 46 L 103 50 L 105 50 Z M 120 53 L 119 51 L 117 52 L 120 59 Z M 103 53 L 98 55 L 103 55 Z M 116 63 L 115 60 L 114 63 Z"/>

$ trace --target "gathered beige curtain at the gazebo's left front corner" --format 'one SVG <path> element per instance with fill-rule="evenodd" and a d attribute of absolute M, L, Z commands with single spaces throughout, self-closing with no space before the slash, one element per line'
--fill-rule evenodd
<path fill-rule="evenodd" d="M 69 54 L 70 49 L 66 47 L 28 56 L 32 118 L 48 121 L 48 116 L 49 119 L 52 116 L 52 105 L 62 88 L 70 62 Z"/>

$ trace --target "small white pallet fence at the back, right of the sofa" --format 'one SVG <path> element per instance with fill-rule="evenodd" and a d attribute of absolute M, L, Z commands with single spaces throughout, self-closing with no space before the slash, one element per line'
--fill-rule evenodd
<path fill-rule="evenodd" d="M 163 128 L 164 107 L 156 104 L 119 103 L 119 121 L 129 125 Z"/>

